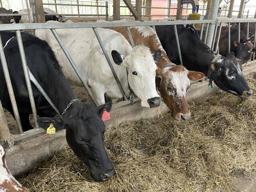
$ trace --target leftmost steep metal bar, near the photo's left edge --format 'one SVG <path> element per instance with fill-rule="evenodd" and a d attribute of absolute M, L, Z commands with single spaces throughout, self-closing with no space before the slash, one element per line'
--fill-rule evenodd
<path fill-rule="evenodd" d="M 1 58 L 2 68 L 3 68 L 3 71 L 4 71 L 4 78 L 5 78 L 5 81 L 6 81 L 6 85 L 7 85 L 7 88 L 8 88 L 10 100 L 11 100 L 11 103 L 12 103 L 12 109 L 13 109 L 14 117 L 15 117 L 15 120 L 16 120 L 16 123 L 17 123 L 17 126 L 18 126 L 19 133 L 23 133 L 22 125 L 21 125 L 21 122 L 20 122 L 20 114 L 19 114 L 18 107 L 17 107 L 17 104 L 16 104 L 14 92 L 13 92 L 13 89 L 12 89 L 12 82 L 11 82 L 10 74 L 9 74 L 9 71 L 8 71 L 6 58 L 4 56 L 4 48 L 3 48 L 3 44 L 2 44 L 1 35 L 0 35 L 0 58 Z"/>

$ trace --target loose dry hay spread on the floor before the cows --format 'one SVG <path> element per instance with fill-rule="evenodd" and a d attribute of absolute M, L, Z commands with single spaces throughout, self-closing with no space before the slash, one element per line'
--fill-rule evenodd
<path fill-rule="evenodd" d="M 256 92 L 256 74 L 247 79 Z M 241 103 L 218 92 L 190 109 L 186 123 L 164 114 L 108 129 L 115 173 L 107 182 L 93 182 L 69 148 L 20 181 L 32 192 L 238 191 L 234 178 L 256 168 L 256 95 Z"/>

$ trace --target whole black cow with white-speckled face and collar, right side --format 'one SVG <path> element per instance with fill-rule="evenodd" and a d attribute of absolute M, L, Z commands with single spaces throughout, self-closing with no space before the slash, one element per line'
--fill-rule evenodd
<path fill-rule="evenodd" d="M 211 67 L 211 79 L 222 90 L 240 98 L 252 94 L 242 74 L 242 67 L 233 54 L 221 56 L 211 64 L 216 53 L 200 40 L 196 30 L 190 25 L 178 25 L 177 30 L 182 61 L 188 70 L 203 72 L 207 76 Z M 156 26 L 156 33 L 169 59 L 178 64 L 180 60 L 173 26 Z"/>

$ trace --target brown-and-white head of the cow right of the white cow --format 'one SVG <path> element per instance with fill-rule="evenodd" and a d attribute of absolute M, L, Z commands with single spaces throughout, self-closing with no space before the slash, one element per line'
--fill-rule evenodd
<path fill-rule="evenodd" d="M 177 121 L 190 120 L 186 92 L 190 87 L 190 80 L 199 80 L 204 77 L 204 74 L 188 71 L 182 65 L 172 65 L 163 69 L 158 68 L 156 76 L 160 78 L 158 88 L 172 116 Z"/>

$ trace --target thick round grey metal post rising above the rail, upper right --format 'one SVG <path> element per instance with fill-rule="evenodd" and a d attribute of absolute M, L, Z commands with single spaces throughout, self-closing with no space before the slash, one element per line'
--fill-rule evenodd
<path fill-rule="evenodd" d="M 207 39 L 206 39 L 206 45 L 208 45 L 209 47 L 212 46 L 212 38 L 214 35 L 214 27 L 215 27 L 216 19 L 217 19 L 219 1 L 220 0 L 214 0 L 212 2 L 212 14 L 211 14 L 212 22 L 209 25 L 209 32 L 207 34 Z"/>

